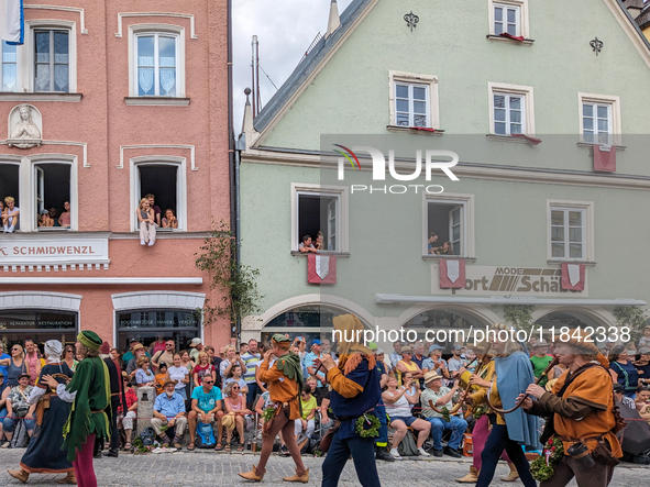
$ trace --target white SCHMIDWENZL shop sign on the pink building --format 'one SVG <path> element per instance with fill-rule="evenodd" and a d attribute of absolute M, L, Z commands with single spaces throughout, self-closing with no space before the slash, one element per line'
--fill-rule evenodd
<path fill-rule="evenodd" d="M 0 266 L 109 264 L 108 239 L 7 239 Z"/>

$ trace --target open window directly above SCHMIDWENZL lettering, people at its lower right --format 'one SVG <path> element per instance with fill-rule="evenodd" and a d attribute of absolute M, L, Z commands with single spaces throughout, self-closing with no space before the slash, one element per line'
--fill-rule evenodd
<path fill-rule="evenodd" d="M 63 163 L 34 164 L 34 229 L 47 231 L 71 228 L 71 214 L 77 209 L 70 204 L 70 164 Z M 43 210 L 47 211 L 51 225 L 41 222 Z"/>

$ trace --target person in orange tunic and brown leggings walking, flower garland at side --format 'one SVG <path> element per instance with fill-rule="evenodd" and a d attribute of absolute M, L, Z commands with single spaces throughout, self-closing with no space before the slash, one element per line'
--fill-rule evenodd
<path fill-rule="evenodd" d="M 289 352 L 290 345 L 291 341 L 287 336 L 276 333 L 271 339 L 271 350 L 264 354 L 264 361 L 260 365 L 257 378 L 266 384 L 272 405 L 264 410 L 265 422 L 262 430 L 260 462 L 257 465 L 253 465 L 251 472 L 239 474 L 246 480 L 262 482 L 266 473 L 266 462 L 273 452 L 275 436 L 282 432 L 282 438 L 296 464 L 296 475 L 285 477 L 283 480 L 309 482 L 309 468 L 305 468 L 300 457 L 300 449 L 294 436 L 294 421 L 302 417 L 300 405 L 302 370 L 300 357 Z M 277 357 L 273 366 L 271 366 L 272 355 Z M 266 417 L 267 411 L 268 418 Z"/>

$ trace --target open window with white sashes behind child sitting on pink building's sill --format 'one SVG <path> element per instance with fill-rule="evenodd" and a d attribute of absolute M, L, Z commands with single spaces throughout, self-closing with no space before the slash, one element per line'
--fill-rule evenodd
<path fill-rule="evenodd" d="M 184 191 L 181 189 L 185 185 L 184 167 L 183 164 L 156 162 L 135 165 L 133 214 L 131 215 L 133 230 L 137 230 L 135 210 L 139 208 L 142 198 L 147 195 L 154 196 L 154 204 L 161 209 L 161 228 L 158 231 L 187 230 Z M 177 229 L 164 228 L 163 219 L 167 210 L 172 210 L 177 219 Z"/>

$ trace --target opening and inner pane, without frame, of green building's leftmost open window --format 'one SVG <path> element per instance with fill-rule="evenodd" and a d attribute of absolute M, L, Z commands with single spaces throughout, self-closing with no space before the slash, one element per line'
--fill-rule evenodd
<path fill-rule="evenodd" d="M 298 193 L 298 245 L 305 235 L 310 235 L 316 245 L 322 233 L 324 250 L 340 252 L 339 195 Z"/>

